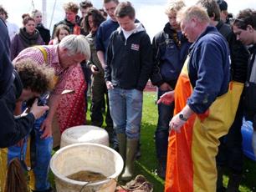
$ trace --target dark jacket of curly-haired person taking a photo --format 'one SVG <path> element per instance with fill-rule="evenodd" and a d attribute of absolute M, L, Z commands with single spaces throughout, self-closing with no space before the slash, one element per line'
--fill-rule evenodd
<path fill-rule="evenodd" d="M 15 78 L 11 88 L 0 99 L 0 148 L 17 144 L 20 139 L 23 139 L 31 131 L 35 120 L 31 113 L 23 118 L 14 119 L 13 111 L 16 99 L 22 93 L 23 85 L 18 73 L 14 72 L 13 74 L 15 74 Z"/>

